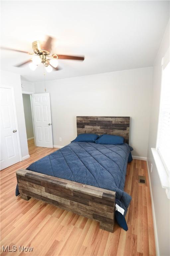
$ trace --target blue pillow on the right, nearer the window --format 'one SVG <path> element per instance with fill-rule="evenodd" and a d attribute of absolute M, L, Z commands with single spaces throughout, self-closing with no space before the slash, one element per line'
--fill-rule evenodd
<path fill-rule="evenodd" d="M 120 145 L 124 143 L 124 138 L 117 135 L 103 134 L 95 141 L 98 144 L 111 144 L 111 145 Z"/>

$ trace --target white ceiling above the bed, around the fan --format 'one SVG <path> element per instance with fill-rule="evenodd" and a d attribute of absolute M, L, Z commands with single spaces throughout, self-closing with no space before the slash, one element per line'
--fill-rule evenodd
<path fill-rule="evenodd" d="M 1 46 L 32 51 L 44 35 L 56 38 L 52 53 L 84 55 L 59 60 L 46 80 L 153 66 L 169 20 L 169 1 L 1 1 Z M 25 53 L 1 50 L 1 69 L 42 81 L 35 70 L 13 65 Z"/>

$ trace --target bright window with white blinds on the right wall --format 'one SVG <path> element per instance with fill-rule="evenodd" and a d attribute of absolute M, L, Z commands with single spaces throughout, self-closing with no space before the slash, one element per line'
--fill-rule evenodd
<path fill-rule="evenodd" d="M 162 84 L 156 149 L 170 173 L 170 62 L 162 66 Z"/>

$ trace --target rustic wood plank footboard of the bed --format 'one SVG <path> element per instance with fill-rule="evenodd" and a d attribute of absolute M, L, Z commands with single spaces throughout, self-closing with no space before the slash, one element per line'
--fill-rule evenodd
<path fill-rule="evenodd" d="M 25 169 L 16 172 L 21 198 L 31 197 L 100 222 L 113 232 L 116 192 Z"/>

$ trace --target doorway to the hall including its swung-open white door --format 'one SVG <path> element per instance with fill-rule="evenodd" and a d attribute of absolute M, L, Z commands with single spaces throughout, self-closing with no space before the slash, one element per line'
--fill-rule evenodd
<path fill-rule="evenodd" d="M 27 141 L 53 148 L 49 93 L 22 92 Z"/>

